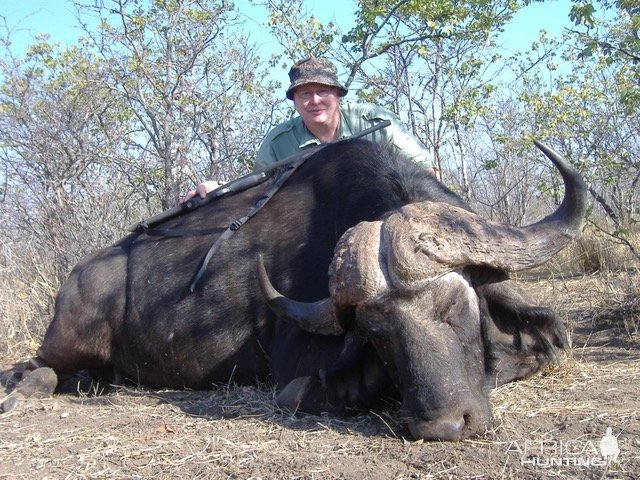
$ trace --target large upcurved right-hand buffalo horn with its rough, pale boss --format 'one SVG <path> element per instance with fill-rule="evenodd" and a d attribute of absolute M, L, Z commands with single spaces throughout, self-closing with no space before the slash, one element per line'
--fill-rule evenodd
<path fill-rule="evenodd" d="M 407 205 L 383 226 L 382 243 L 388 246 L 394 283 L 413 283 L 467 265 L 525 270 L 543 264 L 562 249 L 581 228 L 586 188 L 569 162 L 541 143 L 536 145 L 564 180 L 564 199 L 554 213 L 518 228 L 448 204 Z"/>

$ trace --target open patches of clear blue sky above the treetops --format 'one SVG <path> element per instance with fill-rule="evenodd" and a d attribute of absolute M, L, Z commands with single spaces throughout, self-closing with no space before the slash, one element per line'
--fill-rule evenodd
<path fill-rule="evenodd" d="M 248 5 L 247 0 L 236 1 Z M 343 1 L 308 0 L 307 8 L 319 20 L 338 19 L 341 25 L 345 20 Z M 524 51 L 538 38 L 538 32 L 544 28 L 552 36 L 560 35 L 562 28 L 569 25 L 567 15 L 571 8 L 570 0 L 551 0 L 543 4 L 534 3 L 520 11 L 502 37 L 502 44 L 512 51 Z M 258 12 L 251 7 L 243 8 L 248 18 L 255 21 L 254 40 L 260 41 L 262 20 Z M 339 12 L 339 13 L 338 13 Z M 22 53 L 33 37 L 38 33 L 49 33 L 53 41 L 63 46 L 75 42 L 78 30 L 75 29 L 73 6 L 67 0 L 0 0 L 0 16 L 5 17 L 9 27 L 16 30 L 13 35 L 14 53 Z M 346 16 L 348 19 L 348 15 Z M 347 25 L 348 27 L 348 25 Z"/>

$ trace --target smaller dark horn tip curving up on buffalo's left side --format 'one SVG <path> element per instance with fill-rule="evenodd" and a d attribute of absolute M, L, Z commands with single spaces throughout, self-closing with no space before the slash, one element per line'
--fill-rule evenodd
<path fill-rule="evenodd" d="M 301 329 L 320 335 L 341 335 L 344 328 L 340 325 L 333 308 L 331 298 L 317 302 L 298 302 L 278 292 L 264 266 L 262 254 L 258 255 L 258 280 L 260 290 L 269 308 L 279 317 Z"/>

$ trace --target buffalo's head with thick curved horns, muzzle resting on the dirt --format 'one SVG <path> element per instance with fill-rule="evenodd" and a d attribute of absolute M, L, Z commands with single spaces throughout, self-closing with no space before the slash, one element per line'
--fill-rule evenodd
<path fill-rule="evenodd" d="M 329 272 L 330 298 L 312 304 L 280 295 L 260 264 L 263 294 L 281 318 L 316 334 L 346 332 L 346 339 L 357 332 L 373 345 L 417 438 L 459 440 L 483 433 L 491 420 L 487 380 L 529 375 L 562 346 L 561 338 L 548 338 L 557 331 L 546 335 L 525 325 L 527 309 L 537 307 L 520 298 L 514 307 L 520 312 L 492 319 L 500 314 L 486 306 L 482 296 L 489 287 L 478 281 L 495 274 L 495 288 L 504 282 L 508 297 L 505 272 L 544 263 L 581 227 L 582 180 L 557 153 L 537 145 L 562 174 L 565 197 L 536 224 L 494 223 L 444 203 L 406 205 L 342 236 Z M 535 341 L 521 340 L 532 331 Z M 504 361 L 510 365 L 500 365 Z M 283 403 L 291 406 L 308 394 L 309 382 L 300 379 L 285 390 Z"/>

